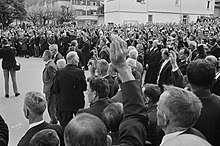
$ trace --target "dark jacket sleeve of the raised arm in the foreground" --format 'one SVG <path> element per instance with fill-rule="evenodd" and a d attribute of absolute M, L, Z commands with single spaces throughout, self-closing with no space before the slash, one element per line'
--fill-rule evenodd
<path fill-rule="evenodd" d="M 147 110 L 137 81 L 121 84 L 124 118 L 119 126 L 120 146 L 144 146 L 147 138 Z"/>

